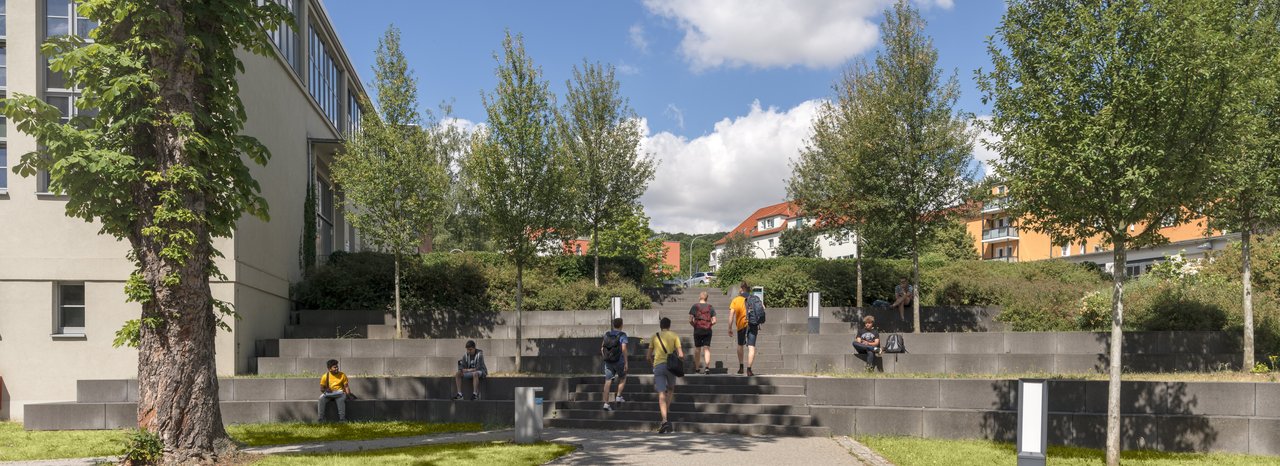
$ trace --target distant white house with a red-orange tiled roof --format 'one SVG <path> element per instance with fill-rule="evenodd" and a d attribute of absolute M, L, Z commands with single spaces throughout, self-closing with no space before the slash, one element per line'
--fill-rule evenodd
<path fill-rule="evenodd" d="M 778 242 L 783 230 L 812 225 L 813 219 L 805 218 L 792 202 L 760 207 L 716 242 L 708 264 L 712 270 L 719 269 L 719 256 L 724 252 L 724 243 L 735 233 L 742 233 L 750 238 L 753 256 L 765 259 L 777 256 Z M 818 248 L 822 259 L 847 259 L 858 253 L 858 245 L 852 237 L 838 238 L 832 234 L 819 234 Z"/>

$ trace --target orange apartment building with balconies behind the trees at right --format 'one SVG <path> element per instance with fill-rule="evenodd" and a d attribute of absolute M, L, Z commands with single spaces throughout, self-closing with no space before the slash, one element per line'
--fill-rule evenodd
<path fill-rule="evenodd" d="M 1108 271 L 1112 270 L 1111 248 L 1102 243 L 1102 238 L 1053 245 L 1043 233 L 1018 228 L 1018 219 L 1005 213 L 1007 198 L 1005 187 L 996 187 L 993 193 L 998 197 L 983 205 L 979 214 L 965 224 L 982 260 L 1016 262 L 1062 259 L 1073 262 L 1094 262 Z M 1146 273 L 1166 256 L 1183 253 L 1187 259 L 1202 259 L 1211 251 L 1224 248 L 1228 242 L 1239 239 L 1238 233 L 1206 234 L 1203 219 L 1161 228 L 1160 233 L 1169 238 L 1169 243 L 1129 251 L 1125 260 L 1125 273 L 1129 277 Z"/>

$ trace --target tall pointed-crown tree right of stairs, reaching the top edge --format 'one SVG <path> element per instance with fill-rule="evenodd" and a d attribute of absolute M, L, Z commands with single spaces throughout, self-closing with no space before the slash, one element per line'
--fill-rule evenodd
<path fill-rule="evenodd" d="M 938 229 L 965 214 L 964 198 L 977 178 L 973 133 L 955 110 L 955 76 L 943 81 L 938 52 L 924 36 L 924 20 L 905 0 L 886 12 L 882 51 L 874 65 L 859 63 L 846 77 L 861 102 L 847 137 L 859 175 L 854 205 L 887 234 L 902 238 L 911 277 L 920 289 L 919 257 Z M 920 332 L 920 300 L 913 303 Z"/>

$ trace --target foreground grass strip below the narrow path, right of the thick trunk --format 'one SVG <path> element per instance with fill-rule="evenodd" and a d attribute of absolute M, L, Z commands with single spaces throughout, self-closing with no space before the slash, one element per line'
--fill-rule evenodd
<path fill-rule="evenodd" d="M 370 449 L 364 452 L 333 454 L 278 454 L 253 463 L 255 466 L 278 465 L 325 465 L 325 466 L 378 466 L 378 465 L 541 465 L 573 451 L 572 446 L 557 443 L 535 443 L 518 446 L 506 442 L 493 443 L 451 443 L 390 449 Z"/>

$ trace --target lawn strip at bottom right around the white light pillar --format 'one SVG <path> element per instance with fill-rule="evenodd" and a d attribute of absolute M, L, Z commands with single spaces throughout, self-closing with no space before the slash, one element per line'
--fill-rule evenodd
<path fill-rule="evenodd" d="M 914 437 L 865 437 L 858 442 L 867 444 L 886 460 L 899 466 L 955 466 L 955 465 L 1012 465 L 1018 452 L 1011 443 L 986 440 L 945 440 Z M 1280 457 L 1228 454 L 1228 453 L 1166 453 L 1121 452 L 1125 465 L 1140 466 L 1258 466 L 1280 465 Z M 1094 466 L 1106 460 L 1101 449 L 1075 447 L 1050 447 L 1048 463 L 1056 466 Z"/>

